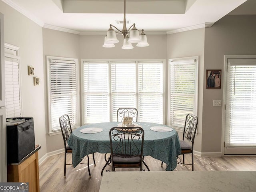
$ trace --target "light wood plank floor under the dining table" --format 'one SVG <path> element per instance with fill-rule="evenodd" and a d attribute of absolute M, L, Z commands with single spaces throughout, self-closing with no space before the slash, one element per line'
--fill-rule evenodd
<path fill-rule="evenodd" d="M 67 154 L 67 162 L 71 162 L 71 156 L 71 154 Z M 91 178 L 89 178 L 87 166 L 84 164 L 79 164 L 76 168 L 73 168 L 71 165 L 67 165 L 66 178 L 64 178 L 64 153 L 48 157 L 39 166 L 40 192 L 98 192 L 102 178 L 100 173 L 105 164 L 105 160 L 104 154 L 95 153 L 94 156 L 96 166 L 93 165 L 92 155 L 90 155 Z M 191 161 L 190 154 L 186 154 L 185 160 Z M 87 159 L 84 159 L 83 161 L 86 162 Z M 165 171 L 165 164 L 161 167 L 161 162 L 159 160 L 147 156 L 144 161 L 149 166 L 150 171 Z M 111 170 L 111 167 L 107 166 L 105 170 Z M 136 169 L 116 169 L 116 171 L 135 170 Z M 188 170 L 191 170 L 191 166 L 178 164 L 174 171 Z M 256 156 L 200 157 L 194 155 L 194 170 L 256 171 Z"/>

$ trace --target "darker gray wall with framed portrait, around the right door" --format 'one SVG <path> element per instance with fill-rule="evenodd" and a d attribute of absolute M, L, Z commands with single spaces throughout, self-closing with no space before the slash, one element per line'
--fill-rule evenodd
<path fill-rule="evenodd" d="M 202 115 L 202 152 L 220 152 L 222 142 L 222 107 L 212 100 L 222 100 L 221 89 L 206 89 L 206 70 L 222 69 L 224 55 L 256 54 L 256 15 L 227 15 L 205 29 L 204 94 Z"/>

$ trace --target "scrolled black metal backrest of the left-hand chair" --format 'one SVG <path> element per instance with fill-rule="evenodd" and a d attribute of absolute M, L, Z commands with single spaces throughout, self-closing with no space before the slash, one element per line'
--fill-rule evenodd
<path fill-rule="evenodd" d="M 69 136 L 72 133 L 69 116 L 67 114 L 62 115 L 59 118 L 59 122 L 60 122 L 60 129 L 62 132 L 63 140 L 64 140 L 64 145 L 66 146 L 66 142 L 68 141 Z"/>

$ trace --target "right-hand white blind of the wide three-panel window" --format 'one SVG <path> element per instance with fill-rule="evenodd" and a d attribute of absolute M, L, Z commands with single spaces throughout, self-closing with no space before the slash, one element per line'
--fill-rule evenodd
<path fill-rule="evenodd" d="M 138 63 L 138 119 L 163 123 L 163 64 Z"/>

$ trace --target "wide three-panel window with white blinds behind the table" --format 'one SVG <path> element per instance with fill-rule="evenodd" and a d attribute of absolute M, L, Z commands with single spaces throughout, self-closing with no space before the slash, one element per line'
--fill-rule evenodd
<path fill-rule="evenodd" d="M 117 121 L 120 107 L 138 121 L 163 123 L 163 62 L 83 62 L 83 124 Z"/>

